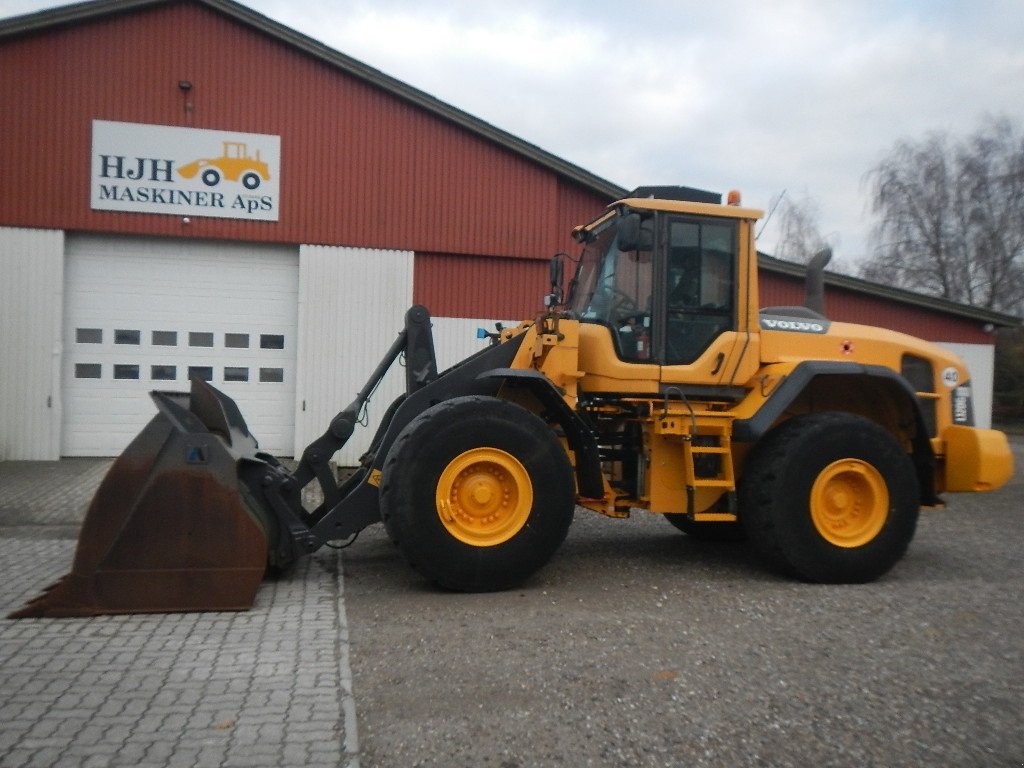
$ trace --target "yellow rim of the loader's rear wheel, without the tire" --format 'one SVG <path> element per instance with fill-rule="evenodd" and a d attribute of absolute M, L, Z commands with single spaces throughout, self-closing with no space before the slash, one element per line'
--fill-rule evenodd
<path fill-rule="evenodd" d="M 837 547 L 862 547 L 889 516 L 889 488 L 879 470 L 859 459 L 833 462 L 811 487 L 814 527 Z"/>

